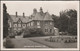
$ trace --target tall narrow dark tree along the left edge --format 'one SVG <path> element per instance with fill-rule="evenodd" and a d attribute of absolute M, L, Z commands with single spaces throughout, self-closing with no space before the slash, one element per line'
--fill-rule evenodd
<path fill-rule="evenodd" d="M 8 36 L 8 16 L 9 14 L 7 13 L 7 7 L 3 4 L 3 38 Z"/>

